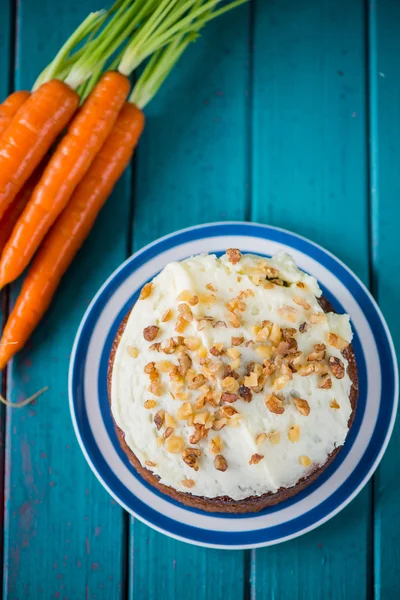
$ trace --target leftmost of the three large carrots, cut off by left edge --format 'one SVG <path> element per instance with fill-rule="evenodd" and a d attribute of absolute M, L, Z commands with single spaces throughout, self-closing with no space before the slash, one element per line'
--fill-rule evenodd
<path fill-rule="evenodd" d="M 79 96 L 53 79 L 33 92 L 0 139 L 0 218 L 67 125 Z"/>

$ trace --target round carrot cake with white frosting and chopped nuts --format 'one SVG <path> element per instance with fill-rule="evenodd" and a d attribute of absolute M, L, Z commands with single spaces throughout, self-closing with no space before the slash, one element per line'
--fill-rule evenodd
<path fill-rule="evenodd" d="M 168 264 L 109 361 L 116 431 L 164 494 L 258 511 L 313 482 L 345 442 L 358 381 L 348 315 L 281 252 Z"/>

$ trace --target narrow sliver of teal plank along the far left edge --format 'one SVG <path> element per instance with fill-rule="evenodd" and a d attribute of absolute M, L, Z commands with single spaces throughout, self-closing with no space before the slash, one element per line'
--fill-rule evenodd
<path fill-rule="evenodd" d="M 0 3 L 0 98 L 6 98 L 10 92 L 10 68 L 12 68 L 13 57 L 11 56 L 12 47 L 12 11 L 11 2 L 8 0 Z M 2 294 L 0 303 L 0 323 L 7 314 L 7 294 Z M 2 374 L 2 393 L 6 393 L 6 377 Z M 4 481 L 4 454 L 5 454 L 5 407 L 0 406 L 0 481 Z M 4 505 L 4 485 L 0 485 L 0 503 Z M 0 519 L 0 561 L 3 563 L 3 516 Z M 2 580 L 3 573 L 0 578 Z M 0 580 L 0 589 L 2 581 Z"/>

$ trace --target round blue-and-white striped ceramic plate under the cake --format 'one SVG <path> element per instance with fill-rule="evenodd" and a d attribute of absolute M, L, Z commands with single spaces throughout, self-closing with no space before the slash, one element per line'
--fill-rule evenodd
<path fill-rule="evenodd" d="M 289 252 L 314 275 L 338 312 L 350 315 L 359 370 L 356 418 L 343 449 L 303 492 L 259 513 L 221 515 L 191 509 L 146 483 L 122 452 L 107 397 L 107 364 L 117 329 L 142 286 L 167 263 L 201 252 L 240 248 Z M 214 223 L 173 233 L 129 258 L 99 290 L 83 317 L 71 357 L 69 395 L 82 451 L 109 493 L 132 515 L 179 540 L 218 548 L 277 544 L 321 525 L 344 508 L 376 469 L 397 408 L 392 340 L 375 301 L 332 254 L 289 231 L 251 223 Z"/>

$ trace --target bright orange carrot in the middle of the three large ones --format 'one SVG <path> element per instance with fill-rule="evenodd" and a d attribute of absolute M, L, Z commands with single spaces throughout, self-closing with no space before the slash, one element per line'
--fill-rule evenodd
<path fill-rule="evenodd" d="M 73 119 L 4 248 L 0 287 L 14 281 L 29 264 L 104 144 L 129 87 L 124 75 L 106 73 Z"/>

